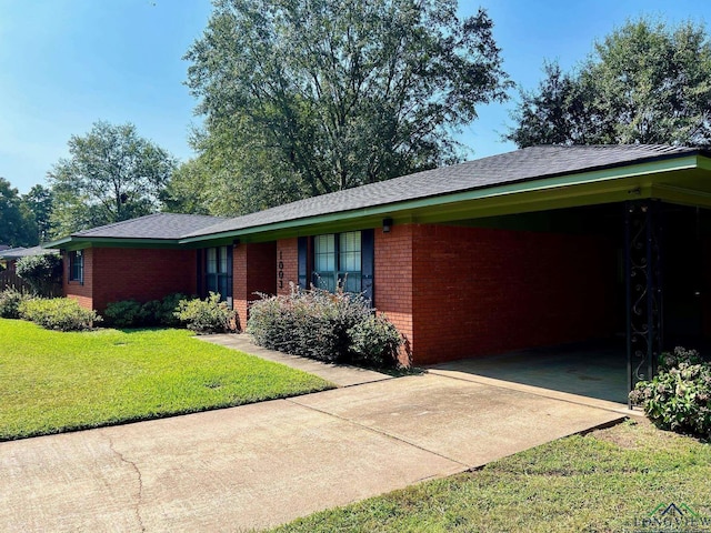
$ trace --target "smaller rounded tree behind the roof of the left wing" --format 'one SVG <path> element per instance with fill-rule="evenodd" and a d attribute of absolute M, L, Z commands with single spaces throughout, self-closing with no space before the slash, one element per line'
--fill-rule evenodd
<path fill-rule="evenodd" d="M 96 122 L 72 135 L 69 154 L 48 172 L 54 235 L 158 211 L 176 160 L 139 137 L 133 124 Z"/>

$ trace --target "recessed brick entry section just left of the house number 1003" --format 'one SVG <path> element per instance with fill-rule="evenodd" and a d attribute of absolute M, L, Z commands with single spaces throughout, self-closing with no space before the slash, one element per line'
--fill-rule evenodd
<path fill-rule="evenodd" d="M 277 292 L 277 243 L 240 244 L 232 255 L 232 293 L 240 326 L 247 326 L 249 302 L 254 292 Z"/>

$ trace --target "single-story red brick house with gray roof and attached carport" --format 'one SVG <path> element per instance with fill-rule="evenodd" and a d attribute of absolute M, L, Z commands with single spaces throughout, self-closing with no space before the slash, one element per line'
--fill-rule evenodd
<path fill-rule="evenodd" d="M 397 325 L 415 364 L 625 333 L 642 368 L 661 333 L 711 335 L 708 208 L 709 152 L 535 147 L 244 217 L 154 214 L 48 245 L 67 259 L 66 294 L 98 311 L 218 290 L 246 324 L 256 292 L 341 280 Z"/>

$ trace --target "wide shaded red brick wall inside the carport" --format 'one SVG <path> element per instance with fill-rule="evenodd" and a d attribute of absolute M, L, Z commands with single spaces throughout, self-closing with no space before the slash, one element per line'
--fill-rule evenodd
<path fill-rule="evenodd" d="M 417 364 L 613 332 L 617 257 L 604 238 L 415 225 L 412 250 Z"/>

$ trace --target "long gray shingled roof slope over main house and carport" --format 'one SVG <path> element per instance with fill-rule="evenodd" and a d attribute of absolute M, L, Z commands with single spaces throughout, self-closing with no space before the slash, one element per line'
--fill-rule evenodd
<path fill-rule="evenodd" d="M 332 214 L 555 175 L 601 170 L 699 153 L 659 144 L 531 147 L 465 163 L 308 198 L 193 230 L 184 238 L 239 231 L 277 222 Z"/>

